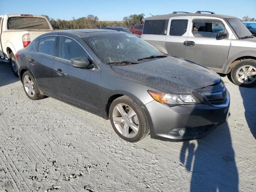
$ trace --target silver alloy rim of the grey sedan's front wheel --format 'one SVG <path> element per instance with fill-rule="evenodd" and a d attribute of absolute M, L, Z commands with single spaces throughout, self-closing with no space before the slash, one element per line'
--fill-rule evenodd
<path fill-rule="evenodd" d="M 127 104 L 117 104 L 112 118 L 116 129 L 126 138 L 134 138 L 139 131 L 139 120 L 136 112 Z"/>

